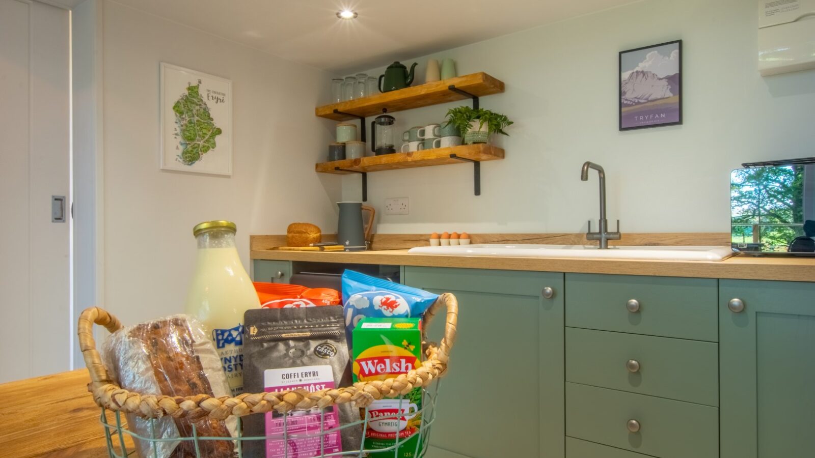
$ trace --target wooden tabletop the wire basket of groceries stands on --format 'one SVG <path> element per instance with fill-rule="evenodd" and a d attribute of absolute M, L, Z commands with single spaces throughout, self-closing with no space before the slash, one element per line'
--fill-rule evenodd
<path fill-rule="evenodd" d="M 85 368 L 0 384 L 2 456 L 108 458 Z M 112 412 L 108 420 L 114 421 Z M 117 441 L 118 442 L 118 441 Z M 128 451 L 133 441 L 125 437 Z"/>

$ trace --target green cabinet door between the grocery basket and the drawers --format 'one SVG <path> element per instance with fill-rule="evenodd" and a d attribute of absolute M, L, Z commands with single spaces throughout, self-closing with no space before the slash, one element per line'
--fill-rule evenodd
<path fill-rule="evenodd" d="M 434 448 L 472 458 L 565 456 L 563 275 L 407 266 L 405 284 L 453 293 L 460 309 L 428 458 Z M 442 319 L 431 324 L 431 340 L 442 327 Z"/>

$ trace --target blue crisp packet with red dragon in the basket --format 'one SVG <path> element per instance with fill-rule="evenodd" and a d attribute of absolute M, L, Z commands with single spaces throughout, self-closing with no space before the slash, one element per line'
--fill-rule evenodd
<path fill-rule="evenodd" d="M 377 318 L 420 318 L 438 294 L 346 270 L 342 274 L 342 312 L 346 333 L 366 316 Z"/>

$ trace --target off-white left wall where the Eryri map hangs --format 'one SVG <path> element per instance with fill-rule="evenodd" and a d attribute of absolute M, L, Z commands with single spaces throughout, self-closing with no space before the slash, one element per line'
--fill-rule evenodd
<path fill-rule="evenodd" d="M 231 178 L 159 170 L 160 62 L 232 80 Z M 340 180 L 314 173 L 333 133 L 314 116 L 330 77 L 104 2 L 104 306 L 131 324 L 183 310 L 197 222 L 236 222 L 247 270 L 249 234 L 336 224 Z"/>

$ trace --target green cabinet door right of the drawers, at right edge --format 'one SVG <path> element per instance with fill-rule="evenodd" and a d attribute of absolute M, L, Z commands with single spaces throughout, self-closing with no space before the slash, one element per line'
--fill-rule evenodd
<path fill-rule="evenodd" d="M 721 458 L 812 457 L 815 284 L 721 280 L 719 300 Z"/>

